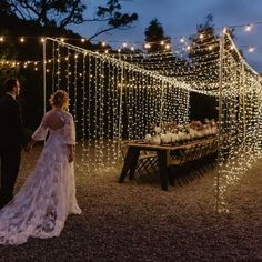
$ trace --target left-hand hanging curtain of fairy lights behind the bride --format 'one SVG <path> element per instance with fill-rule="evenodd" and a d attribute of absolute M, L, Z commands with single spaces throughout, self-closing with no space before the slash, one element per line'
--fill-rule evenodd
<path fill-rule="evenodd" d="M 69 92 L 82 163 L 90 169 L 112 167 L 122 158 L 121 141 L 143 138 L 152 124 L 189 121 L 183 82 L 56 39 L 46 39 L 44 57 L 46 98 L 57 89 Z"/>

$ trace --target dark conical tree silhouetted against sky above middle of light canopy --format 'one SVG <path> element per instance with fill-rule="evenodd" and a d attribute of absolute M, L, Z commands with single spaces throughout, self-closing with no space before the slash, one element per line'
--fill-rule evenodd
<path fill-rule="evenodd" d="M 145 49 L 148 52 L 159 52 L 159 51 L 164 51 L 169 50 L 167 49 L 167 44 L 170 44 L 170 37 L 164 36 L 164 30 L 162 24 L 158 21 L 158 19 L 153 19 L 150 23 L 149 27 L 145 28 L 144 31 L 145 36 L 145 44 L 150 44 L 150 47 Z"/>

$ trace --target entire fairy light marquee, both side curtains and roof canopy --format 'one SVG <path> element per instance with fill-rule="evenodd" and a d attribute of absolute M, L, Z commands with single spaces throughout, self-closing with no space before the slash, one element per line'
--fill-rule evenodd
<path fill-rule="evenodd" d="M 219 172 L 216 209 L 223 210 L 230 185 L 261 155 L 262 93 L 259 74 L 244 61 L 228 31 L 194 47 L 152 54 L 95 53 L 47 39 L 47 94 L 70 93 L 82 161 L 89 168 L 112 165 L 122 139 L 143 138 L 150 125 L 188 123 L 190 93 L 216 98 Z M 203 52 L 209 50 L 209 52 Z"/>

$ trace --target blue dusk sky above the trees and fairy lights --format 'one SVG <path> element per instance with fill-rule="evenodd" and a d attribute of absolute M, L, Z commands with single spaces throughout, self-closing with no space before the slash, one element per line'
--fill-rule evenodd
<path fill-rule="evenodd" d="M 175 46 L 179 37 L 195 33 L 196 24 L 202 23 L 211 13 L 218 33 L 225 26 L 256 22 L 250 32 L 244 31 L 244 27 L 238 27 L 235 41 L 243 50 L 248 63 L 254 70 L 262 72 L 262 0 L 125 0 L 120 2 L 122 11 L 137 12 L 139 20 L 129 30 L 101 34 L 93 42 L 104 40 L 118 48 L 125 41 L 141 48 L 144 41 L 144 29 L 152 19 L 157 18 Z M 92 17 L 94 7 L 105 6 L 105 3 L 107 0 L 85 0 L 87 14 Z M 71 29 L 89 38 L 101 26 L 101 23 L 83 23 L 73 26 Z M 253 47 L 254 52 L 249 52 L 249 47 Z"/>

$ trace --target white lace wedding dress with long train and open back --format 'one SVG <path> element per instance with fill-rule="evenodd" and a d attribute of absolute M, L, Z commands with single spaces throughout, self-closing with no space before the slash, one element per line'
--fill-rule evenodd
<path fill-rule="evenodd" d="M 58 130 L 46 127 L 47 112 L 32 138 L 49 138 L 26 183 L 0 210 L 0 244 L 22 244 L 29 236 L 58 236 L 68 214 L 80 214 L 75 198 L 74 169 L 69 163 L 68 145 L 75 143 L 73 118 L 59 112 L 64 125 Z M 57 113 L 57 112 L 56 112 Z"/>

